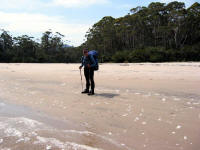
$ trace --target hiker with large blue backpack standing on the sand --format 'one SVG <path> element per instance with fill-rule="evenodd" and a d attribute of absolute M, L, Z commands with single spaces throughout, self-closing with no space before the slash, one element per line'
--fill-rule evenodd
<path fill-rule="evenodd" d="M 96 69 L 97 62 L 95 61 L 94 56 L 89 53 L 88 49 L 83 49 L 81 62 L 82 64 L 79 69 L 82 69 L 82 67 L 84 66 L 84 75 L 86 80 L 86 89 L 82 91 L 82 94 L 87 93 L 88 95 L 94 95 L 94 71 L 98 70 Z"/>

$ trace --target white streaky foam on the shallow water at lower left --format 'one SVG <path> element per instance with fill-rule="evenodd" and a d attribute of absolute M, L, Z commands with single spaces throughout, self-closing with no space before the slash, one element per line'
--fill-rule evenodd
<path fill-rule="evenodd" d="M 55 128 L 47 126 L 46 124 L 24 117 L 0 117 L 0 143 L 4 141 L 4 138 L 8 138 L 15 140 L 16 147 L 20 143 L 29 143 L 33 145 L 45 145 L 46 149 L 58 148 L 72 150 L 100 150 L 96 147 L 84 145 L 84 143 L 76 143 L 76 141 L 60 141 L 56 136 L 45 137 L 40 134 L 41 131 L 45 131 L 47 133 L 50 132 L 51 134 L 55 132 L 55 135 L 57 135 L 57 132 L 62 132 L 64 134 L 66 133 L 66 135 L 70 133 L 72 136 L 73 134 L 74 136 L 83 135 L 85 138 L 87 138 L 87 136 L 93 136 L 107 144 L 129 150 L 126 145 L 122 147 L 122 145 L 117 141 L 90 131 L 56 130 Z"/>

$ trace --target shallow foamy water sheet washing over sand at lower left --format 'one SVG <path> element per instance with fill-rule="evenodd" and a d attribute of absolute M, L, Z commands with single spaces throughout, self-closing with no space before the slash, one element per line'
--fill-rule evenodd
<path fill-rule="evenodd" d="M 79 130 L 78 130 L 79 129 Z M 105 136 L 25 106 L 0 102 L 1 149 L 129 149 Z"/>

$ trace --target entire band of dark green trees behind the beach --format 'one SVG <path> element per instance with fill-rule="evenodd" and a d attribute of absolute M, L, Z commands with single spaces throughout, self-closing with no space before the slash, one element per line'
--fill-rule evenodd
<path fill-rule="evenodd" d="M 200 61 L 200 4 L 151 3 L 121 18 L 104 17 L 79 47 L 64 47 L 63 35 L 47 31 L 36 42 L 0 35 L 1 62 L 80 62 L 82 48 L 96 49 L 101 62 Z"/>

